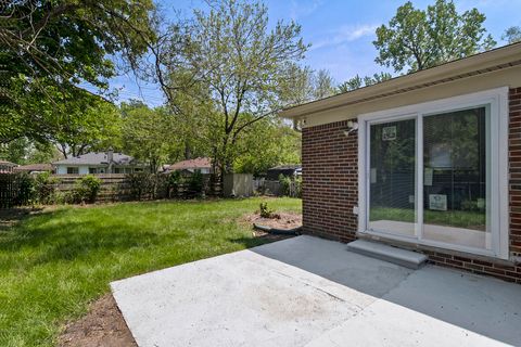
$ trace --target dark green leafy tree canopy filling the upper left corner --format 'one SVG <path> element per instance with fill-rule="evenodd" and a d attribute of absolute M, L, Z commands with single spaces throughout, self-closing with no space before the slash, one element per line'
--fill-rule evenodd
<path fill-rule="evenodd" d="M 0 8 L 0 142 L 45 139 L 42 113 L 88 82 L 101 90 L 117 66 L 136 67 L 154 42 L 152 0 L 22 0 Z M 47 101 L 47 108 L 29 101 Z M 52 120 L 52 119 L 51 119 Z M 46 131 L 42 136 L 42 131 Z"/>

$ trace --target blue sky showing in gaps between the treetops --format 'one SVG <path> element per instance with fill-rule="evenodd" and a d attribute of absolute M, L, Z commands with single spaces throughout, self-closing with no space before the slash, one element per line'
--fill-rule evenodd
<path fill-rule="evenodd" d="M 278 20 L 296 21 L 302 25 L 305 43 L 312 43 L 304 64 L 314 69 L 328 69 L 336 82 L 354 75 L 372 75 L 384 70 L 374 63 L 377 51 L 372 44 L 374 29 L 386 24 L 404 0 L 265 0 L 271 23 Z M 430 1 L 412 1 L 424 9 Z M 163 0 L 169 14 L 180 11 L 190 15 L 192 9 L 204 8 L 201 0 Z M 521 25 L 521 0 L 455 0 L 459 11 L 478 8 L 486 15 L 485 27 L 498 41 L 505 29 Z M 160 105 L 163 97 L 156 86 L 137 83 L 130 76 L 119 76 L 111 82 L 120 88 L 119 100 L 140 99 L 149 105 Z"/>

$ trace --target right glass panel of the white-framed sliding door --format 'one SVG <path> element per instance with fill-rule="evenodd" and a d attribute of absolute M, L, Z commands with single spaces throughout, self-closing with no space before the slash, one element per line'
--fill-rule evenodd
<path fill-rule="evenodd" d="M 491 249 L 490 111 L 423 118 L 424 240 Z"/>

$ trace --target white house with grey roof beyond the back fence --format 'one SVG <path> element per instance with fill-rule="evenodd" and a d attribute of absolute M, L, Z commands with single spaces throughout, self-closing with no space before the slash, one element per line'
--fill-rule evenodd
<path fill-rule="evenodd" d="M 58 175 L 132 174 L 145 169 L 134 157 L 107 152 L 92 152 L 52 163 Z"/>

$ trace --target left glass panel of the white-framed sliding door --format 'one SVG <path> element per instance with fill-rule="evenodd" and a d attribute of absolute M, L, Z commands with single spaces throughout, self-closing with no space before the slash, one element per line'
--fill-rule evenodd
<path fill-rule="evenodd" d="M 369 230 L 416 237 L 416 118 L 372 124 L 369 132 Z"/>

